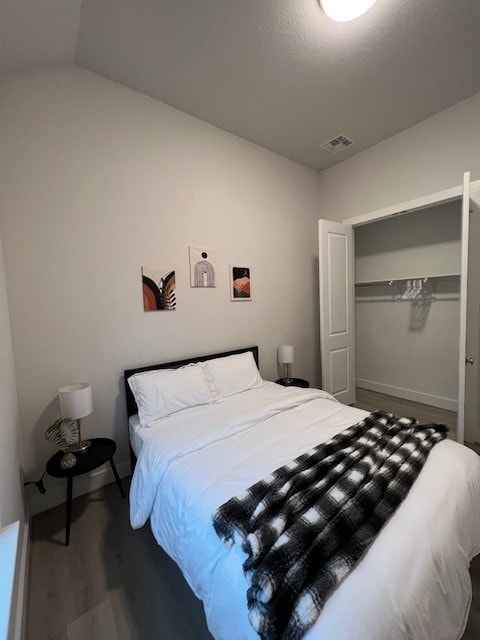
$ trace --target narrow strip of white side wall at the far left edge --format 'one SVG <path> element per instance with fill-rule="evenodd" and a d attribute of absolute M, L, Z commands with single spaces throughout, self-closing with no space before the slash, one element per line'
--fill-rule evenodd
<path fill-rule="evenodd" d="M 0 243 L 0 529 L 23 522 L 17 389 Z"/>

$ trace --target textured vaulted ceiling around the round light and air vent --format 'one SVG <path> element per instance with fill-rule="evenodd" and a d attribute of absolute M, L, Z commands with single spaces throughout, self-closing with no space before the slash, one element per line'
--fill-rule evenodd
<path fill-rule="evenodd" d="M 321 170 L 480 91 L 478 0 L 0 0 L 3 72 L 76 63 Z M 480 123 L 479 123 L 480 126 Z M 336 155 L 321 148 L 345 134 Z"/>

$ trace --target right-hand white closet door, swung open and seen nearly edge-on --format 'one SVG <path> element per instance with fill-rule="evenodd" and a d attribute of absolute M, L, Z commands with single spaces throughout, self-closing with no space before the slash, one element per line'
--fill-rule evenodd
<path fill-rule="evenodd" d="M 468 180 L 466 182 L 468 187 Z M 462 203 L 462 214 L 466 216 L 469 209 L 469 226 L 468 226 L 468 281 L 466 291 L 466 329 L 465 329 L 465 360 L 464 370 L 465 376 L 459 376 L 461 382 L 464 382 L 463 395 L 464 400 L 464 438 L 469 442 L 480 442 L 479 428 L 479 353 L 480 353 L 480 180 L 472 182 L 470 187 L 470 202 L 467 207 L 467 201 Z M 467 191 L 465 188 L 464 191 Z M 464 196 L 467 194 L 464 193 Z M 462 217 L 462 222 L 466 224 L 466 219 Z M 460 363 L 462 366 L 462 363 Z M 461 403 L 459 403 L 459 406 Z M 460 415 L 459 415 L 460 418 Z"/>

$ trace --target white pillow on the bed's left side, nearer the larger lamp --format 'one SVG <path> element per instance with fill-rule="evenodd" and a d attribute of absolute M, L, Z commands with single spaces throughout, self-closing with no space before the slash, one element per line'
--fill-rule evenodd
<path fill-rule="evenodd" d="M 128 378 L 128 384 L 142 427 L 149 427 L 154 420 L 182 409 L 218 400 L 215 388 L 199 363 L 136 373 Z"/>

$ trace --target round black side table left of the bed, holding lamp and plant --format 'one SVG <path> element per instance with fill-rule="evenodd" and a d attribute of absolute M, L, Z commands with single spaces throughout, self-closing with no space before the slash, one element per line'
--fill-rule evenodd
<path fill-rule="evenodd" d="M 77 453 L 77 464 L 72 469 L 62 469 L 60 460 L 63 457 L 63 451 L 57 451 L 47 462 L 47 473 L 54 478 L 67 478 L 67 521 L 65 527 L 65 546 L 68 547 L 70 542 L 70 522 L 72 520 L 72 492 L 73 478 L 80 476 L 94 469 L 98 469 L 102 464 L 110 462 L 115 482 L 122 498 L 125 498 L 120 476 L 118 475 L 115 462 L 113 461 L 114 453 L 117 445 L 109 438 L 90 438 L 92 443 L 84 453 Z"/>

